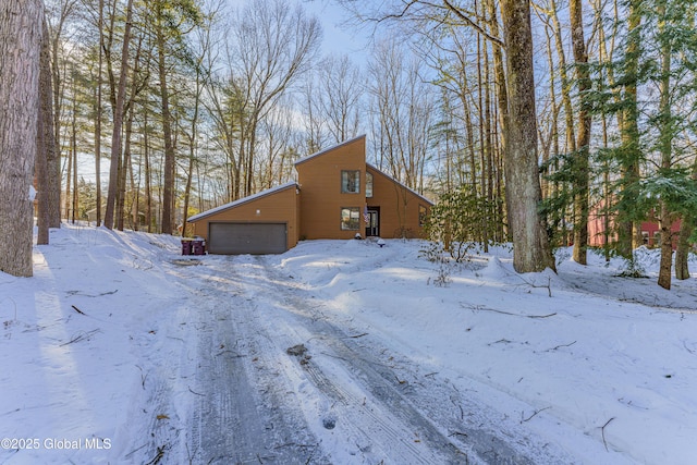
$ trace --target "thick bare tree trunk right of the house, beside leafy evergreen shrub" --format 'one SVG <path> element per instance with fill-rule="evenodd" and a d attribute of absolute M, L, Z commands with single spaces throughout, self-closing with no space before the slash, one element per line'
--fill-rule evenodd
<path fill-rule="evenodd" d="M 513 267 L 517 272 L 555 269 L 538 207 L 537 114 L 533 68 L 533 34 L 528 0 L 502 0 L 508 69 L 508 146 L 505 152 L 509 224 Z"/>

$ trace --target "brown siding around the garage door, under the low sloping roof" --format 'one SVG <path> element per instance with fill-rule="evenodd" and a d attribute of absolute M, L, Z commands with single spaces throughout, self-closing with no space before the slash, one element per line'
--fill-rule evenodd
<path fill-rule="evenodd" d="M 297 245 L 299 237 L 298 218 L 299 195 L 293 185 L 192 222 L 194 234 L 206 241 L 208 241 L 208 224 L 211 222 L 286 223 L 288 248 L 293 248 Z"/>

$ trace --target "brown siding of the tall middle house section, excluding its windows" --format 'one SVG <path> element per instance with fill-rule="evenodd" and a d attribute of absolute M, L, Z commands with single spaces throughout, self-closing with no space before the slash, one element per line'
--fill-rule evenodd
<path fill-rule="evenodd" d="M 301 185 L 301 238 L 352 238 L 365 234 L 363 208 L 366 203 L 366 139 L 358 137 L 295 164 Z M 360 191 L 341 193 L 341 172 L 360 171 Z M 360 209 L 357 231 L 341 229 L 341 209 Z"/>

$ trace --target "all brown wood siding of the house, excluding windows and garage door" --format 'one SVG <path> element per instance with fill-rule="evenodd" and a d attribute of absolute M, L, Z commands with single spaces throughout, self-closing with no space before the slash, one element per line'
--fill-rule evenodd
<path fill-rule="evenodd" d="M 377 168 L 366 164 L 366 138 L 359 136 L 322 150 L 295 163 L 297 185 L 279 187 L 261 193 L 248 200 L 241 199 L 230 207 L 219 207 L 192 221 L 195 234 L 208 238 L 211 222 L 249 222 L 288 224 L 288 248 L 298 240 L 353 238 L 365 236 L 366 207 L 379 212 L 379 233 L 386 238 L 423 237 L 419 208 L 430 211 L 431 203 L 403 186 Z M 358 171 L 360 186 L 357 193 L 342 193 L 343 171 Z M 366 172 L 372 174 L 372 196 L 366 198 Z M 341 229 L 344 208 L 359 211 L 357 230 Z M 258 212 L 257 212 L 258 211 Z"/>

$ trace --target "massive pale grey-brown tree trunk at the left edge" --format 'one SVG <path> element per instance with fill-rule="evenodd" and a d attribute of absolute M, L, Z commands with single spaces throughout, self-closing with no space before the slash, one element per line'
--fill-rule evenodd
<path fill-rule="evenodd" d="M 0 2 L 0 271 L 30 277 L 42 2 Z"/>

